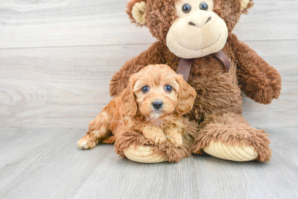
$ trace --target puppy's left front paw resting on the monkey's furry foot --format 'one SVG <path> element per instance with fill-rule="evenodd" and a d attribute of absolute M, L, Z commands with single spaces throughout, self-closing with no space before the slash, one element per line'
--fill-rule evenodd
<path fill-rule="evenodd" d="M 165 142 L 165 134 L 161 128 L 153 125 L 147 125 L 142 130 L 145 138 L 153 141 L 155 144 L 160 144 Z"/>

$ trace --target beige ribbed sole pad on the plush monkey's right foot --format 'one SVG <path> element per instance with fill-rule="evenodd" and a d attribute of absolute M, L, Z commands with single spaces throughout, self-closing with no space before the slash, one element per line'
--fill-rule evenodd
<path fill-rule="evenodd" d="M 203 151 L 217 158 L 238 162 L 254 160 L 259 155 L 253 146 L 227 146 L 220 141 L 211 142 Z"/>

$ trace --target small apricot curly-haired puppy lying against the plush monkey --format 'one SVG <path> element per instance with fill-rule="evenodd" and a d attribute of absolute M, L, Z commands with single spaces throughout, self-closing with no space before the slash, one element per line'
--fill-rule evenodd
<path fill-rule="evenodd" d="M 114 143 L 126 129 L 155 144 L 182 146 L 182 115 L 192 109 L 196 91 L 168 65 L 149 65 L 130 77 L 128 86 L 90 122 L 81 149 Z"/>

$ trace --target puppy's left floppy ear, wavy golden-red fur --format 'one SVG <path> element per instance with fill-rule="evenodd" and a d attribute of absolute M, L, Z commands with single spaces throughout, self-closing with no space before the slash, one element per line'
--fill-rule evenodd
<path fill-rule="evenodd" d="M 132 75 L 129 79 L 128 86 L 121 92 L 120 98 L 122 101 L 122 112 L 127 117 L 137 115 L 138 105 L 136 96 L 133 93 L 135 76 Z"/>

